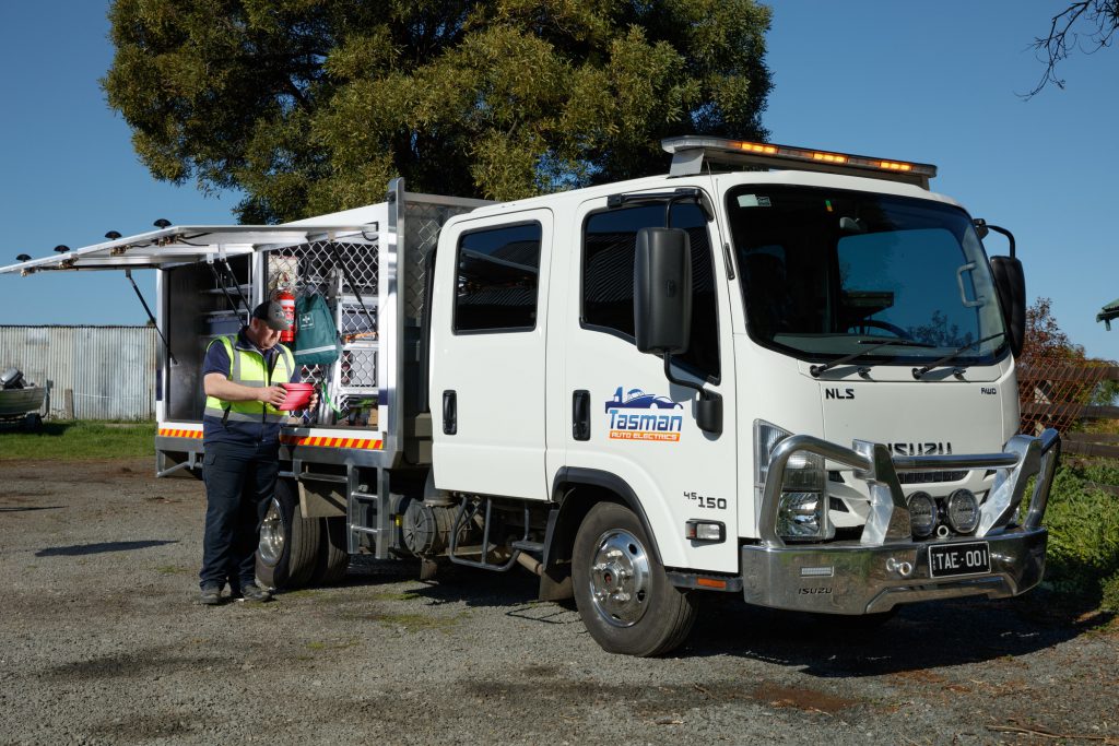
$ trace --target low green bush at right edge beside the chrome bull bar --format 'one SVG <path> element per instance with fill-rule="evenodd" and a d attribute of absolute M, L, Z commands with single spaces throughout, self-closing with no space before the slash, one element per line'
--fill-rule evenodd
<path fill-rule="evenodd" d="M 1046 579 L 1057 591 L 1119 607 L 1119 497 L 1085 482 L 1117 483 L 1115 462 L 1061 466 L 1053 480 L 1045 526 Z"/>

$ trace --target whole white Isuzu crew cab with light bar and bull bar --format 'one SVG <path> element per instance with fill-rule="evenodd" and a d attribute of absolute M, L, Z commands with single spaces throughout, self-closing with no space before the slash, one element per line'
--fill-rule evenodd
<path fill-rule="evenodd" d="M 666 149 L 667 178 L 443 228 L 435 488 L 553 506 L 583 620 L 622 652 L 642 626 L 671 644 L 696 588 L 881 616 L 1035 585 L 1059 447 L 1016 434 L 1016 258 L 993 266 L 930 166 Z M 714 172 L 743 161 L 786 170 Z"/>

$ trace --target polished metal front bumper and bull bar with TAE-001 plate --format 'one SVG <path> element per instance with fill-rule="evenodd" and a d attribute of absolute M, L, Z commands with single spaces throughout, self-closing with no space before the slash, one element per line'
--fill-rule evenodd
<path fill-rule="evenodd" d="M 847 464 L 871 485 L 871 512 L 858 542 L 787 545 L 775 532 L 784 465 L 798 451 Z M 891 457 L 881 444 L 856 442 L 854 450 L 798 435 L 773 450 L 759 510 L 760 545 L 742 547 L 745 601 L 761 606 L 830 614 L 871 614 L 897 604 L 935 598 L 1002 598 L 1037 585 L 1045 570 L 1045 514 L 1061 440 L 1015 436 L 1002 454 Z M 974 536 L 913 541 L 897 471 L 995 469 L 995 484 L 980 508 Z M 1018 525 L 1027 482 L 1036 475 L 1025 519 Z M 990 572 L 933 578 L 929 548 L 985 541 Z"/>

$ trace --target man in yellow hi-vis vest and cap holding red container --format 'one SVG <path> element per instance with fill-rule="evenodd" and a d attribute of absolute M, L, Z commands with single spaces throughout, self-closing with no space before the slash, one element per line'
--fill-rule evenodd
<path fill-rule="evenodd" d="M 231 597 L 271 601 L 256 585 L 255 557 L 261 523 L 280 470 L 280 427 L 286 414 L 283 386 L 299 381 L 291 350 L 280 332 L 291 328 L 279 303 L 253 310 L 235 337 L 210 342 L 203 362 L 206 410 L 203 415 L 203 479 L 206 482 L 206 533 L 198 574 L 200 603 Z M 318 404 L 312 396 L 310 408 Z"/>

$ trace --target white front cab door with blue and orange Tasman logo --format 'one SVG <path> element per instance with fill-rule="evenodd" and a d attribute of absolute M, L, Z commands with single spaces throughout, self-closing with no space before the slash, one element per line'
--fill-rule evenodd
<path fill-rule="evenodd" d="M 665 226 L 664 202 L 611 207 L 585 202 L 571 253 L 562 365 L 566 400 L 586 397 L 585 427 L 566 427 L 568 474 L 629 491 L 640 504 L 667 567 L 737 573 L 735 375 L 730 293 L 718 230 L 695 202 L 671 207 L 671 227 L 687 232 L 692 253 L 690 347 L 674 356 L 673 375 L 723 400 L 723 429 L 696 423 L 694 389 L 665 376 L 660 357 L 639 352 L 633 336 L 637 233 Z M 575 311 L 577 309 L 577 312 Z M 570 405 L 568 405 L 570 406 Z M 717 521 L 724 540 L 685 538 L 688 520 Z"/>

